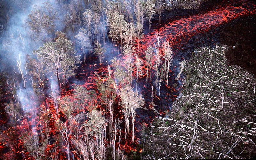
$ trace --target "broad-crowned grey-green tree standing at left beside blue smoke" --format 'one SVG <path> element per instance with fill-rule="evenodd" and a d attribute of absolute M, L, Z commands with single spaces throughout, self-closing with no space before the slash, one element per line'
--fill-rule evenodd
<path fill-rule="evenodd" d="M 75 69 L 81 63 L 80 55 L 76 55 L 73 44 L 63 32 L 57 31 L 56 35 L 56 42 L 44 43 L 43 47 L 34 52 L 37 53 L 37 58 L 44 62 L 49 72 L 56 74 L 58 82 L 63 77 L 62 86 L 65 86 L 68 77 L 75 75 Z"/>

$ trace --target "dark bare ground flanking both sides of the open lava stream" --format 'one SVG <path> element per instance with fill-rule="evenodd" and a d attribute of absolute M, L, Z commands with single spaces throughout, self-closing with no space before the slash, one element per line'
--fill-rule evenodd
<path fill-rule="evenodd" d="M 187 17 L 188 15 L 200 14 L 202 12 L 210 11 L 226 4 L 233 3 L 234 5 L 241 4 L 240 0 L 216 0 L 206 1 L 199 5 L 198 9 L 174 9 L 162 13 L 162 24 L 159 25 L 158 17 L 155 16 L 152 20 L 152 28 L 158 28 L 165 23 L 180 17 Z M 252 0 L 255 4 L 255 1 Z M 212 28 L 208 33 L 201 33 L 185 43 L 182 46 L 184 55 L 189 56 L 188 52 L 200 46 L 211 46 L 215 44 L 226 44 L 228 46 L 235 46 L 226 53 L 230 65 L 237 65 L 245 68 L 250 73 L 256 75 L 256 16 L 241 17 L 232 20 L 228 24 L 221 25 L 217 28 Z M 146 27 L 147 28 L 147 27 Z M 188 54 L 188 55 L 187 55 Z"/>

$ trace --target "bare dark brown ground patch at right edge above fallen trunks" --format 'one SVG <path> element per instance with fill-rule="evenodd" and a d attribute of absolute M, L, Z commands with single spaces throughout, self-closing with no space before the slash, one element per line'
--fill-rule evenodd
<path fill-rule="evenodd" d="M 256 16 L 243 17 L 220 30 L 220 43 L 234 46 L 226 52 L 230 65 L 237 65 L 256 75 Z"/>

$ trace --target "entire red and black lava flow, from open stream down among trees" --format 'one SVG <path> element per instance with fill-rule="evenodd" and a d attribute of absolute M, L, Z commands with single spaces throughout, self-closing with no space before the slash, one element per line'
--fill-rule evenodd
<path fill-rule="evenodd" d="M 113 127 L 114 125 L 116 128 L 113 130 L 111 129 L 112 133 L 109 133 L 109 135 L 101 135 L 103 137 L 103 139 L 105 140 L 104 141 L 104 140 L 100 139 L 100 140 L 102 140 L 101 142 L 103 143 L 103 145 L 107 146 L 111 143 L 112 144 L 111 147 L 114 150 L 117 150 L 117 148 L 118 148 L 118 150 L 120 150 L 120 151 L 125 150 L 125 153 L 128 153 L 131 150 L 136 151 L 135 145 L 139 143 L 139 137 L 140 137 L 140 131 L 142 128 L 142 123 L 145 126 L 148 126 L 148 124 L 153 121 L 154 117 L 164 116 L 165 111 L 170 109 L 173 100 L 175 100 L 175 98 L 178 96 L 178 94 L 180 92 L 181 85 L 174 87 L 171 83 L 169 83 L 170 85 L 166 85 L 165 81 L 162 82 L 163 85 L 160 85 L 162 88 L 162 92 L 160 95 L 156 94 L 157 87 L 153 84 L 153 82 L 149 82 L 147 86 L 145 85 L 146 84 L 145 72 L 146 72 L 146 68 L 147 68 L 145 66 L 145 64 L 146 64 L 145 51 L 147 50 L 147 48 L 149 46 L 152 46 L 153 48 L 157 48 L 156 47 L 156 44 L 157 44 L 156 34 L 159 34 L 159 37 L 160 37 L 159 48 L 160 48 L 162 57 L 164 57 L 164 52 L 161 51 L 162 50 L 161 45 L 164 42 L 169 42 L 169 44 L 172 46 L 172 48 L 174 48 L 174 47 L 178 48 L 178 49 L 175 49 L 175 51 L 177 51 L 180 48 L 182 48 L 183 45 L 184 46 L 186 45 L 186 42 L 189 40 L 189 38 L 191 38 L 192 36 L 194 36 L 198 33 L 207 32 L 212 28 L 215 28 L 222 24 L 228 23 L 231 20 L 236 19 L 241 16 L 255 15 L 255 4 L 254 3 L 252 3 L 251 1 L 243 1 L 241 3 L 242 4 L 239 6 L 229 4 L 229 5 L 225 6 L 225 8 L 221 7 L 214 11 L 206 12 L 204 14 L 193 15 L 188 18 L 181 18 L 179 20 L 173 20 L 172 22 L 165 24 L 161 28 L 152 30 L 151 34 L 146 35 L 144 38 L 140 39 L 140 43 L 135 44 L 134 48 L 136 51 L 134 52 L 134 55 L 136 54 L 143 61 L 141 66 L 143 66 L 142 71 L 144 72 L 144 74 L 139 76 L 140 82 L 138 83 L 138 86 L 139 86 L 138 88 L 141 91 L 141 93 L 144 97 L 144 100 L 145 100 L 145 105 L 143 106 L 143 108 L 138 108 L 136 110 L 137 116 L 135 116 L 135 131 L 136 131 L 135 143 L 132 143 L 132 140 L 131 140 L 132 139 L 131 138 L 132 137 L 132 133 L 131 133 L 132 127 L 131 126 L 130 126 L 130 130 L 128 131 L 128 138 L 124 139 L 124 125 L 125 125 L 123 122 L 124 116 L 122 115 L 122 112 L 121 112 L 122 106 L 119 104 L 120 96 L 118 95 L 120 92 L 120 90 L 119 90 L 120 86 L 117 86 L 115 84 L 116 82 L 114 82 L 113 84 L 110 84 L 110 82 L 109 82 L 109 84 L 108 84 L 109 88 L 111 88 L 113 90 L 106 91 L 106 92 L 109 92 L 109 94 L 111 94 L 111 96 L 114 96 L 116 94 L 115 97 L 111 97 L 111 96 L 109 96 L 110 98 L 107 97 L 110 99 L 109 103 L 113 103 L 114 106 L 116 106 L 116 108 L 114 108 L 114 112 L 109 113 L 109 109 L 105 107 L 105 106 L 107 106 L 105 103 L 106 101 L 104 103 L 102 102 L 102 104 L 99 103 L 99 101 L 101 100 L 102 92 L 100 92 L 100 89 L 97 88 L 98 87 L 97 81 L 98 81 L 98 83 L 102 83 L 104 85 L 105 85 L 105 83 L 108 83 L 108 79 L 110 79 L 110 77 L 113 77 L 113 66 L 111 68 L 112 73 L 109 73 L 109 77 L 108 77 L 108 67 L 105 66 L 104 63 L 102 65 L 102 67 L 99 67 L 100 65 L 98 65 L 98 64 L 97 65 L 93 64 L 90 66 L 87 65 L 87 66 L 84 66 L 83 68 L 79 68 L 79 71 L 78 71 L 76 77 L 71 81 L 73 81 L 76 84 L 82 84 L 81 86 L 86 88 L 87 90 L 94 91 L 93 94 L 95 95 L 94 99 L 91 101 L 86 99 L 86 103 L 89 106 L 93 106 L 93 107 L 96 106 L 98 108 L 98 110 L 102 111 L 102 117 L 103 116 L 111 117 L 111 115 L 113 116 L 112 123 L 110 122 L 110 120 L 108 122 L 106 121 L 107 127 L 105 126 L 106 128 L 103 133 L 107 134 L 106 132 L 108 132 L 108 131 L 106 131 L 106 130 L 110 130 L 110 127 Z M 139 45 L 139 51 L 138 51 L 138 45 Z M 180 59 L 179 59 L 177 52 L 174 54 L 176 57 L 173 59 L 173 61 L 180 61 L 180 59 L 187 59 L 186 57 L 180 57 Z M 155 58 L 155 56 L 156 55 L 153 55 L 153 59 Z M 122 57 L 123 60 L 125 58 L 126 57 Z M 133 58 L 134 58 L 134 61 L 136 61 L 135 56 L 133 56 Z M 162 58 L 162 61 L 163 61 L 163 58 Z M 169 70 L 169 72 L 170 72 L 169 81 L 170 82 L 175 81 L 174 78 L 176 77 L 176 75 L 174 74 L 173 70 L 176 67 L 177 66 L 173 66 Z M 96 76 L 94 71 L 96 73 L 98 73 L 98 75 L 100 75 L 100 76 Z M 104 74 L 104 77 L 101 76 L 103 74 Z M 134 68 L 132 75 L 134 77 L 136 77 L 135 68 Z M 155 75 L 156 74 L 154 74 L 154 73 L 152 74 L 152 76 L 155 76 Z M 133 79 L 135 79 L 135 78 L 133 78 Z M 179 84 L 178 81 L 176 81 L 176 83 Z M 132 84 L 134 84 L 134 82 Z M 159 88 L 160 88 L 160 86 L 159 86 Z M 152 92 L 153 92 L 153 96 L 152 96 Z M 77 97 L 74 98 L 75 93 L 73 93 L 73 89 L 68 92 L 63 90 L 61 95 L 62 96 L 58 99 L 59 102 L 61 102 L 65 96 L 67 97 L 67 95 L 69 96 L 68 97 L 69 99 L 67 99 L 67 100 L 69 100 L 70 102 L 75 102 L 76 99 L 79 99 Z M 153 97 L 155 106 L 152 106 L 152 103 L 151 103 L 152 97 Z M 113 98 L 113 99 L 111 99 L 111 98 Z M 30 105 L 31 105 L 29 107 L 30 109 L 35 108 L 35 106 L 36 106 L 36 104 L 30 104 Z M 76 119 L 74 118 L 72 121 L 67 121 L 67 117 L 63 116 L 62 112 L 60 112 L 60 115 L 56 115 L 55 107 L 54 107 L 54 100 L 52 100 L 52 99 L 50 99 L 50 100 L 47 99 L 45 101 L 45 103 L 42 103 L 40 105 L 40 109 L 42 110 L 41 115 L 36 115 L 36 112 L 39 112 L 39 111 L 36 111 L 35 109 L 33 109 L 33 112 L 29 111 L 30 113 L 33 113 L 33 114 L 28 114 L 25 117 L 23 117 L 23 119 L 21 121 L 17 122 L 16 132 L 21 134 L 22 132 L 31 130 L 31 131 L 33 131 L 33 133 L 35 132 L 36 135 L 41 131 L 42 131 L 42 134 L 44 134 L 44 129 L 46 128 L 46 125 L 48 125 L 47 127 L 51 128 L 51 130 L 49 131 L 49 141 L 51 143 L 48 144 L 46 147 L 46 151 L 49 152 L 48 156 L 50 155 L 52 158 L 57 158 L 57 159 L 66 159 L 66 156 L 67 156 L 66 153 L 70 152 L 70 155 L 73 156 L 73 159 L 79 159 L 79 157 L 77 155 L 78 151 L 75 149 L 75 147 L 80 145 L 80 141 L 79 141 L 79 143 L 77 141 L 80 140 L 81 137 L 77 138 L 77 141 L 76 141 L 76 139 L 75 139 L 76 137 L 72 137 L 70 135 L 71 133 L 69 131 L 66 132 L 65 127 L 67 127 L 68 125 L 71 125 L 71 122 L 73 123 L 72 125 L 77 127 L 78 125 L 76 125 L 76 124 L 80 123 L 80 121 L 82 121 L 82 120 L 80 119 L 79 121 L 78 120 L 76 121 Z M 78 115 L 82 112 L 87 112 L 89 110 L 90 110 L 90 108 L 74 109 L 73 110 L 74 112 L 72 112 L 72 114 L 76 113 Z M 41 119 L 44 119 L 43 118 L 44 116 L 45 117 L 48 116 L 48 118 L 49 118 L 48 122 L 41 121 Z M 122 122 L 119 123 L 119 122 L 117 122 L 118 120 L 115 122 L 113 118 L 121 120 Z M 63 124 L 60 124 L 59 123 L 60 121 L 62 121 Z M 88 117 L 86 118 L 85 121 L 88 122 Z M 131 123 L 132 122 L 130 121 L 130 125 L 131 125 Z M 62 128 L 60 128 L 60 126 L 58 126 L 59 128 L 56 127 L 56 124 L 59 124 Z M 81 131 L 83 131 L 84 128 L 86 128 L 86 127 L 84 127 L 86 125 L 84 124 L 84 126 L 83 125 L 81 125 L 81 126 L 82 127 L 79 129 Z M 71 130 L 72 127 L 70 127 L 70 128 L 67 127 L 66 130 Z M 74 128 L 76 128 L 76 127 L 74 127 Z M 72 129 L 74 129 L 74 128 L 72 128 Z M 4 132 L 9 132 L 9 131 L 7 130 Z M 113 138 L 113 133 L 117 136 L 116 139 Z M 62 134 L 62 138 L 53 140 L 54 139 L 53 137 L 55 137 L 57 134 Z M 98 132 L 97 132 L 97 134 L 98 134 Z M 101 134 L 101 132 L 99 134 Z M 15 136 L 17 136 L 17 135 L 15 135 Z M 47 137 L 47 136 L 45 135 L 45 137 Z M 45 137 L 41 137 L 41 139 L 43 140 L 43 138 L 45 138 Z M 102 137 L 100 137 L 100 138 L 102 138 Z M 81 139 L 83 139 L 83 138 L 84 137 L 82 137 Z M 88 138 L 88 137 L 86 137 L 86 138 Z M 110 142 L 110 139 L 112 140 L 111 142 Z M 70 143 L 67 143 L 67 141 L 69 141 L 69 140 L 70 140 Z M 96 141 L 98 139 L 95 139 L 92 136 L 90 140 Z M 17 144 L 16 147 L 19 150 L 17 150 L 17 149 L 15 150 L 13 148 L 12 148 L 12 150 L 17 153 L 19 152 L 21 154 L 21 157 L 23 157 L 23 158 L 25 157 L 27 159 L 33 159 L 33 158 L 31 158 L 31 155 L 29 156 L 28 155 L 29 153 L 27 153 L 25 151 L 25 149 L 23 148 L 23 146 L 22 146 L 23 142 L 21 142 L 21 140 L 19 140 L 18 143 L 19 144 Z M 57 143 L 59 143 L 59 144 L 54 146 L 54 144 L 57 144 Z M 4 148 L 3 145 L 4 145 L 4 143 L 0 143 L 0 149 Z M 40 145 L 43 145 L 43 144 L 40 144 Z M 88 148 L 86 148 L 86 149 L 88 149 Z M 100 149 L 102 149 L 102 148 L 100 148 Z M 94 152 L 95 151 L 92 151 L 92 153 L 94 153 Z M 24 156 L 24 154 L 25 154 L 25 156 Z M 82 154 L 82 151 L 81 151 L 81 154 Z M 56 155 L 58 155 L 58 156 L 56 156 Z"/>

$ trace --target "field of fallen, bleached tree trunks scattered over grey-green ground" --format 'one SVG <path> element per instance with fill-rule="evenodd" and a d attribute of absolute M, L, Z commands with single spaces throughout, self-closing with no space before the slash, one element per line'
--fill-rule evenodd
<path fill-rule="evenodd" d="M 194 51 L 184 69 L 184 89 L 168 118 L 156 118 L 142 135 L 143 158 L 256 156 L 256 80 L 243 68 L 228 66 L 227 48 Z"/>

